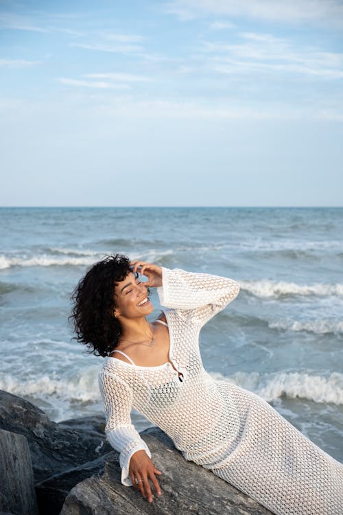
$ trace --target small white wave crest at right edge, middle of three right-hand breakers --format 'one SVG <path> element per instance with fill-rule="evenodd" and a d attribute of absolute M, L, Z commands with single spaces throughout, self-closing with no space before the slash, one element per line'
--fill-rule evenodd
<path fill-rule="evenodd" d="M 314 334 L 343 334 L 343 321 L 335 319 L 322 320 L 279 320 L 269 322 L 270 329 L 290 330 L 290 331 L 307 331 Z"/>

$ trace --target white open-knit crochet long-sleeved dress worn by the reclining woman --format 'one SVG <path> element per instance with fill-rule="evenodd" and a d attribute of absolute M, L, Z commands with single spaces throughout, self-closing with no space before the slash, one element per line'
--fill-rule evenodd
<path fill-rule="evenodd" d="M 239 285 L 163 268 L 157 290 L 169 327 L 170 363 L 141 367 L 109 357 L 99 373 L 106 434 L 120 453 L 122 483 L 132 484 L 133 453 L 145 449 L 151 457 L 131 423 L 134 407 L 171 437 L 185 459 L 209 468 L 275 514 L 342 515 L 343 465 L 254 393 L 215 381 L 204 370 L 200 329 L 235 299 Z"/>

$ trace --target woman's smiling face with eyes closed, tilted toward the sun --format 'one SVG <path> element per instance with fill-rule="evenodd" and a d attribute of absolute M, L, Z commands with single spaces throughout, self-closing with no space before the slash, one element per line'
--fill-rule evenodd
<path fill-rule="evenodd" d="M 132 272 L 115 286 L 115 304 L 115 316 L 119 319 L 145 317 L 154 310 L 147 297 L 147 286 Z"/>

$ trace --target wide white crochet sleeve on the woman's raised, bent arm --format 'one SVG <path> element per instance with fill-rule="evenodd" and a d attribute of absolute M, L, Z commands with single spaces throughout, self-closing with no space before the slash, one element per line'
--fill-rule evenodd
<path fill-rule="evenodd" d="M 239 284 L 233 279 L 193 273 L 180 268 L 162 268 L 163 286 L 157 288 L 161 305 L 180 310 L 204 325 L 233 301 L 239 293 Z"/>

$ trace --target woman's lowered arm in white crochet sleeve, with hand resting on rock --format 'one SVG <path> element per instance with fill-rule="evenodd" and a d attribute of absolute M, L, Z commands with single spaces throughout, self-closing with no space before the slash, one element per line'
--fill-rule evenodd
<path fill-rule="evenodd" d="M 120 453 L 121 483 L 126 486 L 133 485 L 151 502 L 149 480 L 152 481 L 156 493 L 160 495 L 161 488 L 156 474 L 159 475 L 161 472 L 154 466 L 147 444 L 131 422 L 132 393 L 125 382 L 105 371 L 99 373 L 99 389 L 106 414 L 105 432 L 111 446 Z"/>

